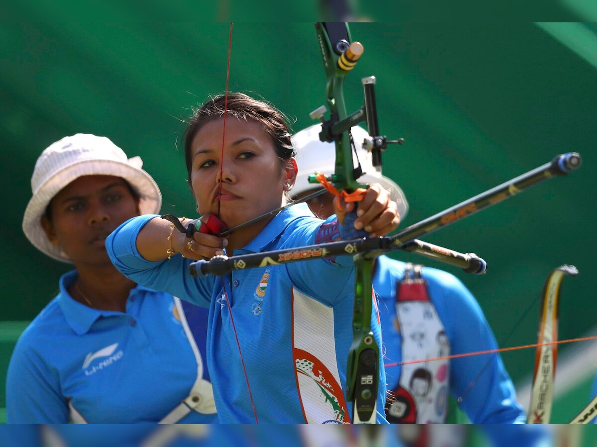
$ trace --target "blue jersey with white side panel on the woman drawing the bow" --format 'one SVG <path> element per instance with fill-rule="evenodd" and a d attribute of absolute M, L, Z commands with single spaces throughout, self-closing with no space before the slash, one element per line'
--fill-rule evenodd
<path fill-rule="evenodd" d="M 188 274 L 192 261 L 180 254 L 149 262 L 137 252 L 137 234 L 154 217 L 140 216 L 119 226 L 106 240 L 107 252 L 116 268 L 137 283 L 210 307 L 208 367 L 220 421 L 349 421 L 351 408 L 344 391 L 352 342 L 352 259 L 317 259 L 193 278 Z M 323 223 L 305 204 L 291 207 L 234 254 L 314 244 Z M 380 343 L 375 312 L 371 326 Z M 377 420 L 386 423 L 383 368 L 379 383 Z"/>

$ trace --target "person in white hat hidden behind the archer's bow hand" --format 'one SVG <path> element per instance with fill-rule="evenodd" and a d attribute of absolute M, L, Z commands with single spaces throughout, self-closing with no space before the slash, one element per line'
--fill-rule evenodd
<path fill-rule="evenodd" d="M 330 174 L 334 170 L 334 145 L 319 141 L 320 131 L 321 125 L 314 125 L 293 136 L 299 169 L 293 188 L 295 200 L 314 191 L 306 173 L 318 170 Z M 356 154 L 367 173 L 361 181 L 377 182 L 390 190 L 404 218 L 408 210 L 404 193 L 395 182 L 376 172 L 371 154 L 362 148 L 362 142 L 369 136 L 367 131 L 355 126 L 351 134 Z M 326 193 L 307 203 L 315 215 L 325 219 L 332 212 L 332 200 L 333 195 Z M 338 234 L 329 236 L 330 240 L 337 237 Z M 512 381 L 498 354 L 405 367 L 396 365 L 401 361 L 497 347 L 481 308 L 456 277 L 433 268 L 421 271 L 420 266 L 380 256 L 373 288 L 379 300 L 389 391 L 386 417 L 390 423 L 444 423 L 448 392 L 456 399 L 461 398 L 460 408 L 472 423 L 524 423 L 524 411 L 516 402 Z M 497 445 L 503 440 L 500 432 L 504 430 L 491 430 Z M 510 436 L 515 432 L 506 433 Z M 544 432 L 531 434 L 541 437 Z"/>

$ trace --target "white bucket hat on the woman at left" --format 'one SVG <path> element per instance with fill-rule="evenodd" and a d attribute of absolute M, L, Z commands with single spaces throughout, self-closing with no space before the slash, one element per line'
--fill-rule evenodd
<path fill-rule="evenodd" d="M 76 134 L 56 141 L 35 163 L 31 178 L 33 197 L 23 216 L 23 232 L 41 252 L 71 262 L 60 247 L 50 243 L 41 226 L 41 217 L 54 195 L 81 176 L 113 175 L 125 179 L 139 194 L 141 214 L 156 214 L 162 206 L 162 194 L 141 166 L 141 157 L 127 159 L 127 154 L 105 136 Z"/>

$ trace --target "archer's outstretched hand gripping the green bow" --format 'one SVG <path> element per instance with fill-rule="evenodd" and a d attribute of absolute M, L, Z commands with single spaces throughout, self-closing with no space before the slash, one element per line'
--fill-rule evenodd
<path fill-rule="evenodd" d="M 391 233 L 400 224 L 396 208 L 396 202 L 390 199 L 390 193 L 380 184 L 372 183 L 356 209 L 358 217 L 355 220 L 355 229 L 364 229 L 371 237 Z M 334 209 L 338 222 L 344 224 L 344 216 L 355 210 L 355 203 L 336 197 Z"/>

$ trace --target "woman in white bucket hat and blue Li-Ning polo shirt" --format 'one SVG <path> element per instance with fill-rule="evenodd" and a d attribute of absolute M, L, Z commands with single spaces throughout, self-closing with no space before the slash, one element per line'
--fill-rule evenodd
<path fill-rule="evenodd" d="M 8 423 L 217 422 L 204 365 L 207 313 L 137 285 L 106 253 L 113 229 L 160 209 L 142 164 L 90 134 L 60 139 L 39 156 L 23 231 L 75 269 L 16 344 Z"/>

